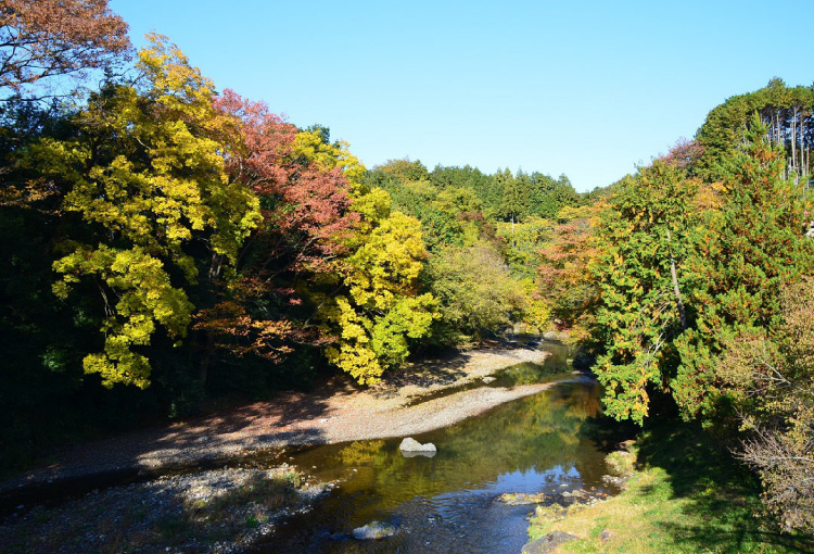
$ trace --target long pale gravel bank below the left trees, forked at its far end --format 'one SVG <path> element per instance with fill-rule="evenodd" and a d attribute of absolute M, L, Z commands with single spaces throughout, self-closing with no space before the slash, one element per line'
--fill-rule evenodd
<path fill-rule="evenodd" d="M 0 496 L 15 490 L 92 476 L 131 471 L 161 475 L 185 466 L 220 463 L 287 445 L 400 437 L 429 431 L 478 415 L 550 385 L 475 389 L 405 406 L 421 394 L 481 379 L 522 362 L 543 363 L 547 353 L 529 348 L 461 352 L 411 364 L 380 385 L 360 389 L 336 377 L 308 393 L 215 413 L 165 428 L 88 442 L 56 453 L 54 462 L 0 483 Z"/>

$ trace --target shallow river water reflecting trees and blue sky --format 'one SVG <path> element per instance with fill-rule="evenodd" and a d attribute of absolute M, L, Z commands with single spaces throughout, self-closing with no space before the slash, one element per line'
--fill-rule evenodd
<path fill-rule="evenodd" d="M 405 457 L 400 439 L 317 446 L 290 462 L 340 484 L 314 509 L 288 519 L 254 549 L 260 553 L 511 553 L 526 542 L 533 506 L 509 506 L 503 493 L 613 493 L 605 456 L 588 438 L 599 414 L 599 387 L 562 374 L 562 347 L 546 366 L 523 364 L 503 385 L 560 379 L 552 388 L 451 427 L 415 436 L 437 446 L 433 457 Z M 512 377 L 513 376 L 513 377 Z M 497 381 L 496 381 L 497 382 Z M 493 386 L 495 383 L 492 383 Z M 393 537 L 358 541 L 371 521 Z"/>

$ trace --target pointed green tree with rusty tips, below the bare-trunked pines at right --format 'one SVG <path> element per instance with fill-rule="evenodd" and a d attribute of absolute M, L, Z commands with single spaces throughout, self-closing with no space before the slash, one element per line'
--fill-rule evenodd
<path fill-rule="evenodd" d="M 814 267 L 799 186 L 783 178 L 783 152 L 766 135 L 755 115 L 746 148 L 729 163 L 722 206 L 705 212 L 687 260 L 694 325 L 677 342 L 672 385 L 687 417 L 728 411 L 730 395 L 716 370 L 722 343 L 743 329 L 772 329 L 783 285 Z"/>

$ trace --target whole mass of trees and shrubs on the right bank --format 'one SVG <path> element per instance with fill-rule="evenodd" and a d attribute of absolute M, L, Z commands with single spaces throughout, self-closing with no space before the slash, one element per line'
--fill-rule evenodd
<path fill-rule="evenodd" d="M 615 184 L 547 272 L 606 412 L 701 421 L 814 531 L 814 92 L 778 79 L 714 109 L 694 141 Z M 567 260 L 571 268 L 558 263 Z"/>

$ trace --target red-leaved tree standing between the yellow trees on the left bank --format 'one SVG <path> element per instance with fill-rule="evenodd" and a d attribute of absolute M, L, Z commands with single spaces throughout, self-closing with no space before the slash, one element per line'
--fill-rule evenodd
<path fill-rule="evenodd" d="M 330 146 L 308 155 L 297 148 L 302 131 L 294 125 L 231 90 L 218 108 L 240 122 L 227 171 L 260 198 L 263 222 L 244 247 L 238 278 L 199 315 L 198 328 L 238 354 L 279 361 L 291 342 L 319 342 L 303 298 L 347 253 L 359 216 Z"/>

